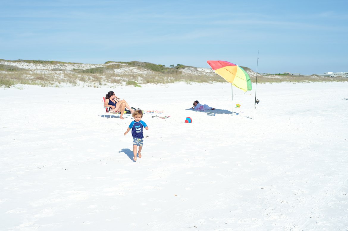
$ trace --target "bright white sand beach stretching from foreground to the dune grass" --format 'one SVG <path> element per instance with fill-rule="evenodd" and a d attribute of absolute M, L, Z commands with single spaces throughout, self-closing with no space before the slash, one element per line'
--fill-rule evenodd
<path fill-rule="evenodd" d="M 0 89 L 0 230 L 348 230 L 347 82 L 258 84 L 255 118 L 228 83 L 21 88 Z M 108 91 L 164 111 L 136 162 Z"/>

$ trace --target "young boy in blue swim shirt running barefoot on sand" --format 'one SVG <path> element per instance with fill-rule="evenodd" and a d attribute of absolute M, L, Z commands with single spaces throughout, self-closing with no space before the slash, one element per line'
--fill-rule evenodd
<path fill-rule="evenodd" d="M 146 125 L 144 121 L 141 120 L 143 118 L 143 112 L 141 110 L 135 110 L 133 112 L 132 116 L 134 117 L 134 121 L 130 123 L 130 125 L 127 128 L 127 131 L 124 133 L 127 135 L 128 131 L 132 129 L 132 136 L 133 136 L 133 154 L 134 154 L 134 161 L 136 161 L 136 149 L 139 146 L 138 155 L 139 158 L 141 158 L 141 149 L 143 148 L 143 142 L 144 142 L 144 135 L 143 135 L 143 128 L 146 130 L 149 130 L 149 127 Z"/>

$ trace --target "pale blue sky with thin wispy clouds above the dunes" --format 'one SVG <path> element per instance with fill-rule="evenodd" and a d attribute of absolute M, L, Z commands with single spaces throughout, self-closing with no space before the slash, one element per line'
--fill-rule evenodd
<path fill-rule="evenodd" d="M 0 59 L 348 71 L 347 0 L 0 0 Z"/>

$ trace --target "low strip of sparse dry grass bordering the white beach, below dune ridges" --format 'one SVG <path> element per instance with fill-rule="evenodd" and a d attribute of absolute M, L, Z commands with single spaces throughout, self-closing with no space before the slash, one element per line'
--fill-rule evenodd
<path fill-rule="evenodd" d="M 347 82 L 348 78 L 343 77 L 322 77 L 322 76 L 258 76 L 258 83 L 282 83 L 282 82 Z M 43 87 L 68 84 L 73 86 L 98 87 L 102 85 L 134 85 L 141 84 L 168 84 L 175 82 L 225 82 L 218 75 L 190 75 L 180 73 L 154 72 L 153 74 L 115 74 L 102 71 L 100 68 L 86 70 L 66 71 L 57 69 L 50 73 L 33 72 L 30 70 L 0 71 L 0 85 L 11 87 L 16 84 L 40 85 Z M 256 78 L 251 77 L 252 83 Z"/>

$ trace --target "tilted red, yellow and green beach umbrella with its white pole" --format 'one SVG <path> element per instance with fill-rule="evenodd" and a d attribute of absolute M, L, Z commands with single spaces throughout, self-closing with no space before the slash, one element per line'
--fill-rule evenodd
<path fill-rule="evenodd" d="M 216 74 L 220 75 L 227 82 L 231 83 L 232 86 L 238 87 L 242 89 L 242 91 L 247 92 L 251 91 L 251 80 L 248 73 L 238 65 L 220 60 L 208 60 L 207 63 Z M 232 89 L 232 105 L 233 105 L 233 87 Z M 233 106 L 232 106 L 232 114 L 233 114 Z"/>

